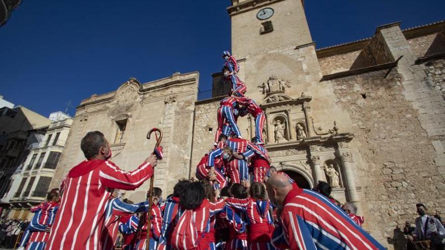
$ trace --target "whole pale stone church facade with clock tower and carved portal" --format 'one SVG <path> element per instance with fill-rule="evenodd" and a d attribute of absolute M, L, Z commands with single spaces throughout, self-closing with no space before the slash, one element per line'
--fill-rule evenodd
<path fill-rule="evenodd" d="M 232 54 L 246 95 L 265 112 L 263 134 L 277 169 L 301 187 L 318 181 L 352 202 L 365 228 L 390 247 L 416 217 L 416 203 L 445 212 L 445 22 L 402 30 L 379 26 L 360 41 L 316 49 L 299 0 L 232 0 Z M 215 55 L 215 58 L 219 58 Z M 217 59 L 215 59 L 217 60 Z M 216 111 L 227 87 L 213 74 L 212 98 L 198 100 L 199 74 L 141 84 L 81 102 L 52 187 L 83 160 L 82 136 L 102 131 L 112 161 L 136 168 L 152 150 L 152 127 L 164 132 L 155 185 L 169 193 L 213 145 Z M 238 120 L 244 138 L 252 117 Z M 148 183 L 124 196 L 138 201 Z"/>

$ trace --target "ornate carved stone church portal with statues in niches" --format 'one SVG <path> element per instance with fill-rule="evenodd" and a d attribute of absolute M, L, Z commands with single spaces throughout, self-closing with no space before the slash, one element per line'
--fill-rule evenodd
<path fill-rule="evenodd" d="M 327 181 L 338 201 L 357 203 L 357 187 L 351 171 L 353 162 L 347 158 L 351 156 L 347 144 L 353 134 L 339 133 L 335 121 L 332 129 L 315 128 L 310 109 L 312 97 L 302 93 L 298 98 L 291 98 L 286 95 L 290 84 L 271 76 L 259 86 L 264 96 L 260 106 L 266 116 L 266 148 L 273 162 L 278 170 L 304 177 L 300 178 L 300 185 L 312 188 L 318 181 Z M 249 129 L 255 129 L 253 123 Z M 321 162 L 325 163 L 324 167 Z"/>

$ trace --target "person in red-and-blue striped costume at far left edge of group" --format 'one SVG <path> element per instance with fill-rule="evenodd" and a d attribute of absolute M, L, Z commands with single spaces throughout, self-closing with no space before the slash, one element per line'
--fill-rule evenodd
<path fill-rule="evenodd" d="M 34 216 L 29 223 L 28 230 L 22 237 L 18 249 L 25 249 L 25 245 L 28 250 L 42 250 L 45 248 L 50 236 L 49 231 L 59 209 L 60 196 L 57 188 L 48 193 L 47 200 L 48 202 L 41 203 L 30 210 L 31 213 L 34 213 Z"/>

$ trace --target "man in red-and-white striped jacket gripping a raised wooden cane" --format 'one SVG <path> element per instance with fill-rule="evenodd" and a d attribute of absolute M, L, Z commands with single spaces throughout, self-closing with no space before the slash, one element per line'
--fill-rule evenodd
<path fill-rule="evenodd" d="M 61 184 L 59 212 L 46 250 L 102 249 L 101 233 L 112 190 L 134 190 L 153 175 L 157 164 L 149 156 L 136 170 L 126 172 L 109 161 L 111 149 L 104 134 L 88 132 L 80 143 L 85 161 L 72 168 Z"/>

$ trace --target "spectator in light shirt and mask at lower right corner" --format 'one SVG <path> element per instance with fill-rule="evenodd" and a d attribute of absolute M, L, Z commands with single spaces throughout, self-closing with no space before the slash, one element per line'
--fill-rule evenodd
<path fill-rule="evenodd" d="M 445 238 L 445 228 L 434 216 L 426 214 L 425 205 L 416 204 L 419 217 L 416 218 L 416 229 L 414 230 L 415 240 L 431 240 L 431 249 L 443 249 L 443 239 Z"/>

